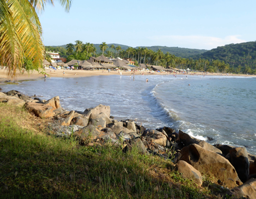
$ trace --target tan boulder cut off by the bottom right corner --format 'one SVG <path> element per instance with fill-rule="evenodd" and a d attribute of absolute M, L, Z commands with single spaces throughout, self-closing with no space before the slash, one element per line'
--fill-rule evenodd
<path fill-rule="evenodd" d="M 234 188 L 228 195 L 229 197 L 234 195 L 236 198 L 256 199 L 256 179 L 252 178 L 243 185 Z"/>

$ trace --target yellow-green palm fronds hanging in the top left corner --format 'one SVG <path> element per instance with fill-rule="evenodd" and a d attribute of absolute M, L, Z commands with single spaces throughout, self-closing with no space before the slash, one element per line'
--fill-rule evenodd
<path fill-rule="evenodd" d="M 58 0 L 69 11 L 70 0 Z M 31 60 L 34 69 L 42 68 L 44 45 L 42 27 L 36 11 L 43 10 L 46 0 L 0 0 L 0 65 L 8 67 L 13 79 Z M 53 4 L 54 0 L 49 1 Z"/>

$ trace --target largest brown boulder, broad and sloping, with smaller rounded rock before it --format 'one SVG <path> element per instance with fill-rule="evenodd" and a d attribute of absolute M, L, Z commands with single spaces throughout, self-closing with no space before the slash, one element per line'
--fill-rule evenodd
<path fill-rule="evenodd" d="M 243 184 L 232 164 L 213 151 L 203 149 L 197 144 L 190 144 L 184 147 L 180 154 L 179 160 L 189 163 L 201 174 L 215 177 L 222 185 L 234 188 Z"/>

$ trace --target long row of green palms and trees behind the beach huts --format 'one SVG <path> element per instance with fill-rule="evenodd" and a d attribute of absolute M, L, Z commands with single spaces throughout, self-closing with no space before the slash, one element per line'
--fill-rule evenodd
<path fill-rule="evenodd" d="M 75 44 L 69 43 L 66 48 L 63 47 L 46 47 L 46 50 L 59 51 L 61 56 L 66 56 L 67 62 L 72 59 L 87 60 L 91 56 L 104 55 L 106 57 L 120 57 L 128 58 L 135 61 L 135 65 L 147 64 L 158 65 L 164 68 L 176 68 L 176 69 L 191 69 L 195 71 L 205 71 L 209 73 L 245 73 L 256 74 L 256 70 L 249 66 L 234 67 L 230 63 L 220 59 L 193 59 L 193 58 L 181 58 L 177 57 L 169 52 L 163 53 L 161 49 L 154 52 L 151 49 L 145 48 L 132 48 L 124 50 L 121 46 L 114 46 L 113 44 L 108 46 L 106 42 L 100 44 L 100 50 L 102 53 L 96 53 L 96 47 L 92 43 L 83 43 L 80 40 L 76 40 Z M 61 52 L 64 52 L 61 54 Z"/>

